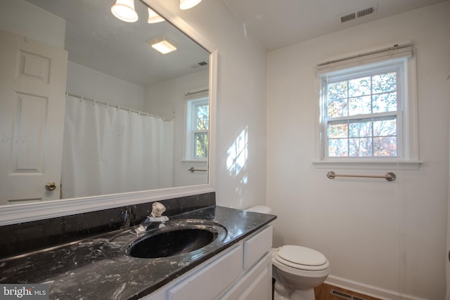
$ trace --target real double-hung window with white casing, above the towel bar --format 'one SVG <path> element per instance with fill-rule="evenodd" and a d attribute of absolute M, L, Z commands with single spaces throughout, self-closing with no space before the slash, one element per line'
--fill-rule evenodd
<path fill-rule="evenodd" d="M 318 67 L 321 159 L 355 162 L 411 159 L 416 155 L 411 147 L 416 141 L 411 118 L 414 105 L 408 98 L 413 94 L 408 60 L 412 52 L 411 47 L 407 49 L 394 59 L 377 53 L 375 62 L 366 65 L 358 56 L 339 60 L 337 68 L 327 66 L 326 72 L 322 66 L 327 64 Z"/>

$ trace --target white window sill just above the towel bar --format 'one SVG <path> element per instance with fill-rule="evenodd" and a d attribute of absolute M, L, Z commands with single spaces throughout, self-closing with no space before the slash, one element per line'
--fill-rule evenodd
<path fill-rule="evenodd" d="M 389 160 L 389 159 L 323 159 L 313 160 L 316 169 L 394 169 L 394 170 L 418 170 L 420 160 Z"/>

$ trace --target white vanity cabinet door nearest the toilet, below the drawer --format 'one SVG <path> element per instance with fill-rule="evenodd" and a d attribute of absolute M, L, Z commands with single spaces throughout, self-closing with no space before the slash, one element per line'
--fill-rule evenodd
<path fill-rule="evenodd" d="M 220 300 L 272 299 L 272 263 L 267 253 L 253 268 L 236 282 Z"/>

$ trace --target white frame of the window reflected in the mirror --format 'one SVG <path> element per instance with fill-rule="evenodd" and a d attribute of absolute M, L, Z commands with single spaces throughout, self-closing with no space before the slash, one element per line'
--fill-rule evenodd
<path fill-rule="evenodd" d="M 208 125 L 208 129 L 205 131 L 198 131 L 196 129 L 195 124 L 195 108 L 199 105 L 210 105 L 210 98 L 209 96 L 199 95 L 197 98 L 190 98 L 186 100 L 186 133 L 185 133 L 185 150 L 184 150 L 184 157 L 187 162 L 207 162 L 208 156 L 210 153 L 207 153 L 207 157 L 194 157 L 195 155 L 195 133 L 200 132 L 207 132 L 208 133 L 208 143 L 210 142 L 210 134 L 209 129 L 210 126 Z M 210 107 L 208 107 L 210 109 Z"/>

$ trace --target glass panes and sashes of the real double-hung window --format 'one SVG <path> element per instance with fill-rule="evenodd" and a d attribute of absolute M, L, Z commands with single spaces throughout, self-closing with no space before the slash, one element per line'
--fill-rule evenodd
<path fill-rule="evenodd" d="M 362 71 L 323 77 L 327 157 L 399 155 L 401 65 Z"/>

